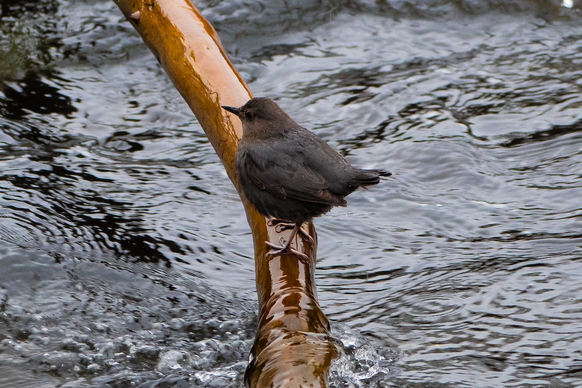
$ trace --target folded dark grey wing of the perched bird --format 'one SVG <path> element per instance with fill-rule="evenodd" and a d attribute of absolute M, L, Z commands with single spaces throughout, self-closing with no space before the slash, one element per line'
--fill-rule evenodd
<path fill-rule="evenodd" d="M 313 169 L 284 153 L 265 151 L 260 154 L 252 149 L 243 151 L 241 173 L 255 186 L 281 199 L 289 197 L 317 204 L 346 205 L 346 200 L 332 194 L 328 182 Z"/>

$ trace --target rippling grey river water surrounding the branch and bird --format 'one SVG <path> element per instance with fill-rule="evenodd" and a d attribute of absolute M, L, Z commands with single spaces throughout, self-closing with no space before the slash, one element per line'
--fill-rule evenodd
<path fill-rule="evenodd" d="M 0 386 L 241 386 L 252 241 L 196 119 L 113 2 L 0 5 Z M 579 3 L 197 5 L 394 173 L 316 220 L 333 387 L 582 387 Z"/>

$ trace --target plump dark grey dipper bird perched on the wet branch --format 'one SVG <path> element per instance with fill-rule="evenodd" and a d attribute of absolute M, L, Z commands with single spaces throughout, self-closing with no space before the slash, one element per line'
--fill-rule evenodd
<path fill-rule="evenodd" d="M 244 195 L 261 215 L 273 218 L 269 225 L 293 226 L 283 246 L 265 241 L 275 250 L 267 258 L 293 253 L 308 259 L 290 247 L 297 232 L 313 241 L 301 225 L 332 207 L 346 206 L 344 197 L 356 188 L 392 175 L 385 170 L 353 167 L 325 141 L 294 122 L 272 99 L 253 98 L 240 108 L 222 108 L 243 123 L 236 172 Z"/>

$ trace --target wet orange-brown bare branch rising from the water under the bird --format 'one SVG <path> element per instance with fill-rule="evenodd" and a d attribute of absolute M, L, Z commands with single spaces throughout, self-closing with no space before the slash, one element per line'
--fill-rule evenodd
<path fill-rule="evenodd" d="M 259 301 L 259 325 L 245 375 L 247 386 L 327 387 L 328 371 L 338 350 L 329 337 L 314 282 L 317 240 L 297 236 L 293 247 L 308 262 L 285 254 L 265 259 L 265 241 L 274 244 L 290 230 L 267 226 L 266 219 L 244 198 L 235 172 L 235 153 L 242 136 L 239 119 L 221 105 L 240 106 L 252 97 L 228 59 L 216 31 L 189 0 L 114 0 L 150 47 L 207 134 L 239 191 L 253 232 Z"/>

